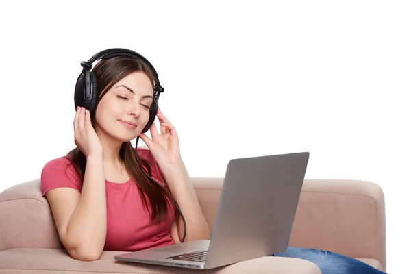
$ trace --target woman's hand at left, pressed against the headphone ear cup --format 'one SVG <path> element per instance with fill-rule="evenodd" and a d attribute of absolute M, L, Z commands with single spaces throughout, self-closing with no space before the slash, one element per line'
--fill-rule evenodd
<path fill-rule="evenodd" d="M 86 155 L 86 158 L 95 154 L 102 155 L 103 146 L 91 125 L 90 111 L 77 107 L 73 124 L 75 145 Z"/>

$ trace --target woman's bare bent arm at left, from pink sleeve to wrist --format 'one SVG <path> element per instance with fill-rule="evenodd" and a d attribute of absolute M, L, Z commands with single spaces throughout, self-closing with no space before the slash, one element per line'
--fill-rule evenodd
<path fill-rule="evenodd" d="M 87 158 L 82 193 L 56 188 L 46 194 L 60 240 L 76 260 L 99 260 L 107 231 L 103 156 Z"/>

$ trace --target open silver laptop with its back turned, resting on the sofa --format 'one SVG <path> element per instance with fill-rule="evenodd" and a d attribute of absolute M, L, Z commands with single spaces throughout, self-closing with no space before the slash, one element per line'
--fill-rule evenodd
<path fill-rule="evenodd" d="M 213 269 L 288 247 L 309 153 L 229 160 L 211 240 L 123 253 L 114 259 Z"/>

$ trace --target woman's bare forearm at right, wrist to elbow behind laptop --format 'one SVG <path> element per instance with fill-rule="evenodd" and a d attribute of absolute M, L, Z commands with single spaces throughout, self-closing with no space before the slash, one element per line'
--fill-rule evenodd
<path fill-rule="evenodd" d="M 186 220 L 187 232 L 184 242 L 190 240 L 209 240 L 210 228 L 203 216 L 203 212 L 201 212 L 199 201 L 195 195 L 195 190 L 190 182 L 190 177 L 184 162 L 181 160 L 169 169 L 168 174 L 163 173 L 163 175 L 171 194 L 175 201 L 177 201 L 180 210 L 182 210 L 184 219 Z M 172 237 L 173 234 L 175 234 L 175 230 L 174 221 L 170 230 Z M 184 222 L 182 218 L 178 219 L 177 231 L 181 242 L 184 235 Z M 176 242 L 175 236 L 173 237 L 173 240 Z"/>

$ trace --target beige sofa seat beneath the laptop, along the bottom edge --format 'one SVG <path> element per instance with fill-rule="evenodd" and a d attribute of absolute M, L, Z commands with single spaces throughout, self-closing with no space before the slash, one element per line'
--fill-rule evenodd
<path fill-rule="evenodd" d="M 321 274 L 312 262 L 296 258 L 261 257 L 210 270 L 183 269 L 119 262 L 114 256 L 124 252 L 103 251 L 100 260 L 74 260 L 64 249 L 8 249 L 0 252 L 0 273 L 305 273 Z M 47 271 L 47 272 L 46 272 Z"/>

